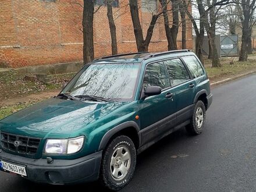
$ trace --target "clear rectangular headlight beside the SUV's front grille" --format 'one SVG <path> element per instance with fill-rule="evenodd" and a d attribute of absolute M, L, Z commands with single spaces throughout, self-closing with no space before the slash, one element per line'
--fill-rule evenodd
<path fill-rule="evenodd" d="M 74 154 L 81 150 L 84 136 L 69 139 L 48 139 L 45 144 L 45 154 Z"/>

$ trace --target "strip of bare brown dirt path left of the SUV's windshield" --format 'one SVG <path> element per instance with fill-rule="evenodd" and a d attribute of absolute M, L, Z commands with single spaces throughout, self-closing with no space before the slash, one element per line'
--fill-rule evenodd
<path fill-rule="evenodd" d="M 0 99 L 0 106 L 14 105 L 18 103 L 26 103 L 31 101 L 38 101 L 44 98 L 58 95 L 61 90 L 45 91 L 43 93 L 30 94 L 23 97 L 14 97 L 12 99 Z"/>

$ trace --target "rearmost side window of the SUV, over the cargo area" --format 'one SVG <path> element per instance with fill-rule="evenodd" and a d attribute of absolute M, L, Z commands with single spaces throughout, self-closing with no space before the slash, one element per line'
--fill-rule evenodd
<path fill-rule="evenodd" d="M 204 70 L 202 70 L 200 63 L 198 62 L 197 58 L 195 58 L 195 56 L 183 56 L 182 59 L 187 64 L 187 67 L 189 67 L 193 78 L 204 75 Z"/>

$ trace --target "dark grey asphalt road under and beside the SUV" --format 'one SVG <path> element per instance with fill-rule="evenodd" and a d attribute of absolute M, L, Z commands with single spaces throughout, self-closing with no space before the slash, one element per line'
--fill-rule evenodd
<path fill-rule="evenodd" d="M 214 102 L 200 136 L 180 129 L 138 156 L 133 180 L 122 191 L 256 191 L 256 75 L 212 90 Z M 0 173 L 1 192 L 103 191 L 35 184 Z"/>

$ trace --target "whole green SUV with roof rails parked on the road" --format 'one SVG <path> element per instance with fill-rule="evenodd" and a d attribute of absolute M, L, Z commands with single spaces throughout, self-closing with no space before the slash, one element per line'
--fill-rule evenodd
<path fill-rule="evenodd" d="M 141 151 L 180 127 L 200 134 L 211 103 L 207 74 L 189 50 L 99 58 L 56 97 L 0 120 L 0 169 L 119 190 Z"/>

